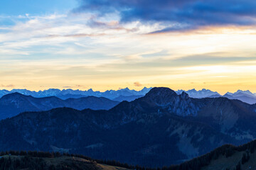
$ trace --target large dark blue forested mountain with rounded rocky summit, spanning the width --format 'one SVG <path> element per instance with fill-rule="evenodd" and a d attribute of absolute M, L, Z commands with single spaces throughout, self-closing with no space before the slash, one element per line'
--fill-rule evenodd
<path fill-rule="evenodd" d="M 65 149 L 96 159 L 164 166 L 240 145 L 256 137 L 256 105 L 228 98 L 190 98 L 153 88 L 109 111 L 55 108 L 0 122 L 1 150 Z"/>

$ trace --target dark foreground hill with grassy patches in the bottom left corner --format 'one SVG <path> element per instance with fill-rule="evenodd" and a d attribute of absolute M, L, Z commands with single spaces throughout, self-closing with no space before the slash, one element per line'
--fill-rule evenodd
<path fill-rule="evenodd" d="M 9 154 L 10 153 L 10 154 Z M 0 170 L 125 170 L 119 166 L 113 166 L 118 162 L 97 163 L 95 160 L 82 155 L 69 155 L 47 152 L 6 152 L 1 153 Z M 112 165 L 110 165 L 112 164 Z M 120 164 L 128 166 L 127 164 Z"/>

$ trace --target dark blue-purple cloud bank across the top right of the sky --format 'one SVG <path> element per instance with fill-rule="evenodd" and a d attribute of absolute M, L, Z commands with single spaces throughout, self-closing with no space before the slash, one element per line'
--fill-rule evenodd
<path fill-rule="evenodd" d="M 201 26 L 254 26 L 254 0 L 81 0 L 75 12 L 99 16 L 119 13 L 123 23 L 163 22 L 164 31 L 191 30 Z"/>

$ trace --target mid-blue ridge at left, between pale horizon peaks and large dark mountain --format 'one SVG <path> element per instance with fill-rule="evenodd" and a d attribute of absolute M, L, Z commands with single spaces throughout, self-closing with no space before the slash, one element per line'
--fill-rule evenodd
<path fill-rule="evenodd" d="M 93 110 L 108 110 L 116 106 L 119 102 L 111 101 L 108 98 L 97 98 L 88 96 L 84 98 L 68 98 L 62 100 L 57 97 L 34 98 L 14 93 L 7 94 L 0 98 L 0 120 L 11 118 L 18 113 L 25 111 L 48 111 L 53 108 L 75 108 L 83 110 L 90 108 Z"/>

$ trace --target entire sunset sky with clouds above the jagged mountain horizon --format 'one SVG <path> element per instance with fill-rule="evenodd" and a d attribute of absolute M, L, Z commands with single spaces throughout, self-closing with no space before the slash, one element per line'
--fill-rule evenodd
<path fill-rule="evenodd" d="M 255 0 L 1 0 L 0 89 L 256 92 Z"/>

